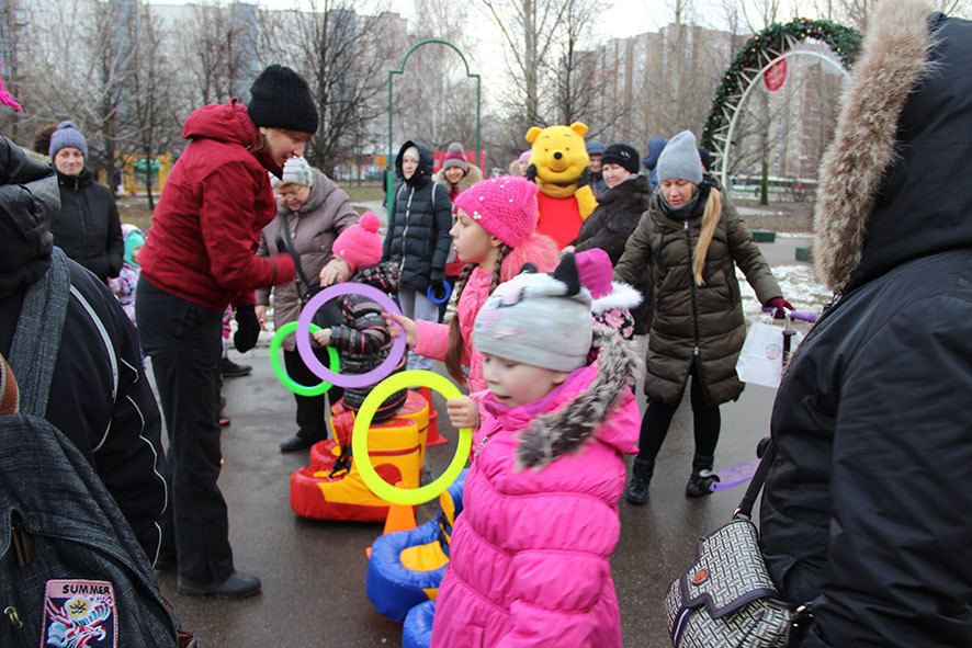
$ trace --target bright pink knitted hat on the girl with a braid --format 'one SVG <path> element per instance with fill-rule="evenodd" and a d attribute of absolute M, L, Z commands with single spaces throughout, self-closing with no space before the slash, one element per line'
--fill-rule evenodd
<path fill-rule="evenodd" d="M 477 182 L 456 196 L 455 206 L 511 248 L 536 229 L 536 184 L 525 178 L 500 175 Z"/>

